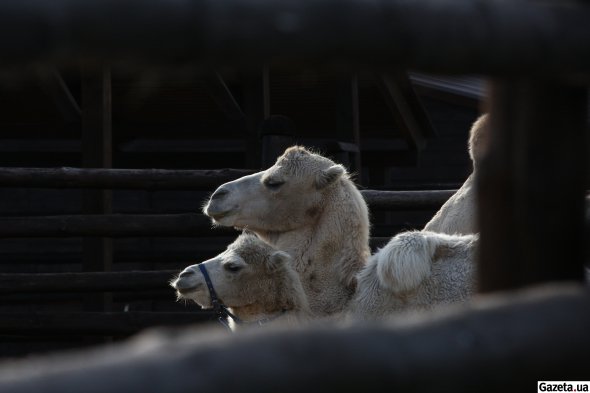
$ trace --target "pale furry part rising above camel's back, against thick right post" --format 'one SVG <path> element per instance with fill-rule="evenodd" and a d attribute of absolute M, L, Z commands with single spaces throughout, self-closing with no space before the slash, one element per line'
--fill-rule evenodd
<path fill-rule="evenodd" d="M 482 115 L 473 123 L 469 137 L 469 156 L 473 162 L 473 173 L 465 183 L 424 227 L 425 231 L 469 234 L 477 233 L 475 176 L 478 164 L 488 143 L 488 116 Z"/>

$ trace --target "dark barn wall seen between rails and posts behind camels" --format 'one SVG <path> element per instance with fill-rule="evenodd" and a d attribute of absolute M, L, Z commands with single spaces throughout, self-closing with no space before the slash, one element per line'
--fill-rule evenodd
<path fill-rule="evenodd" d="M 63 70 L 72 95 L 80 99 L 79 74 Z M 243 75 L 225 70 L 236 100 L 245 105 Z M 338 135 L 336 104 L 341 75 L 313 70 L 271 72 L 270 110 L 290 117 L 297 139 L 318 150 L 326 140 L 352 142 Z M 114 168 L 244 168 L 244 128 L 227 119 L 192 73 L 113 71 Z M 422 97 L 437 132 L 424 150 L 409 151 L 398 126 L 370 78 L 360 78 L 361 183 L 372 189 L 412 190 L 458 187 L 469 174 L 466 142 L 477 117 L 470 106 Z M 81 165 L 80 123 L 64 119 L 38 78 L 0 87 L 0 166 L 61 167 Z M 314 142 L 315 141 L 315 142 Z M 213 191 L 213 190 L 210 190 Z M 78 214 L 82 190 L 0 188 L 0 216 Z M 208 192 L 113 191 L 115 213 L 178 213 L 199 211 Z M 421 228 L 433 210 L 372 212 L 374 236 L 392 236 L 402 229 Z M 228 236 L 206 239 L 149 237 L 114 239 L 114 271 L 179 270 L 205 260 L 231 242 Z M 0 239 L 0 272 L 58 273 L 82 271 L 81 238 Z M 1 312 L 77 312 L 79 294 L 8 295 Z M 197 312 L 175 301 L 171 289 L 118 292 L 113 311 Z M 115 339 L 125 335 L 116 336 Z M 102 342 L 96 335 L 4 334 L 0 357 Z"/>

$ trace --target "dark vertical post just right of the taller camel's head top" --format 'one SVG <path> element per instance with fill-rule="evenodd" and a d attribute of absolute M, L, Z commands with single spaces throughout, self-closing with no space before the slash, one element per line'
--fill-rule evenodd
<path fill-rule="evenodd" d="M 338 91 L 338 113 L 336 117 L 338 134 L 358 147 L 358 153 L 351 153 L 352 168 L 357 173 L 356 181 L 361 182 L 361 138 L 359 123 L 358 76 L 353 74 L 340 84 Z"/>

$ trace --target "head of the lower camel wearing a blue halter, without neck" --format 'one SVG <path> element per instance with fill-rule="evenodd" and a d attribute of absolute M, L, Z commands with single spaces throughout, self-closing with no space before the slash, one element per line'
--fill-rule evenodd
<path fill-rule="evenodd" d="M 227 307 L 256 307 L 265 303 L 268 308 L 278 301 L 275 295 L 282 281 L 281 275 L 291 274 L 291 257 L 277 251 L 255 235 L 240 235 L 216 257 L 202 262 L 220 301 Z M 202 308 L 211 308 L 211 297 L 205 278 L 192 265 L 184 269 L 172 283 L 179 299 L 191 299 Z M 269 304 L 271 303 L 271 304 Z M 283 307 L 283 306 L 281 306 Z"/>

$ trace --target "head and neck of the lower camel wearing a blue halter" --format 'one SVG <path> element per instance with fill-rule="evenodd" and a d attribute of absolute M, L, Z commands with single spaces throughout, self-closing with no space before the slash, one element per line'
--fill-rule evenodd
<path fill-rule="evenodd" d="M 220 301 L 245 325 L 270 320 L 300 323 L 311 315 L 291 257 L 255 235 L 240 235 L 226 251 L 203 264 Z M 179 299 L 194 300 L 203 308 L 212 307 L 205 278 L 197 265 L 184 269 L 171 285 Z M 231 319 L 230 327 L 236 329 Z"/>

